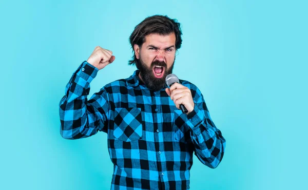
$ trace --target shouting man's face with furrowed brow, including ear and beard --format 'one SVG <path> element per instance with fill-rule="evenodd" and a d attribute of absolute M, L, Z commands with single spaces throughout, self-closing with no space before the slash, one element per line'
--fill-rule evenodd
<path fill-rule="evenodd" d="M 151 90 L 160 90 L 165 85 L 166 76 L 172 73 L 176 58 L 176 35 L 149 34 L 141 47 L 134 45 L 139 78 Z"/>

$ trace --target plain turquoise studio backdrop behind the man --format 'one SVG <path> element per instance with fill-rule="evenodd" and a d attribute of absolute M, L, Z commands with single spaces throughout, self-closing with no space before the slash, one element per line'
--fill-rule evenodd
<path fill-rule="evenodd" d="M 216 169 L 194 157 L 191 189 L 306 186 L 305 1 L 2 1 L 1 189 L 109 189 L 107 135 L 60 136 L 59 102 L 99 45 L 114 63 L 88 98 L 135 67 L 128 37 L 153 14 L 177 18 L 174 73 L 196 84 L 226 138 Z"/>

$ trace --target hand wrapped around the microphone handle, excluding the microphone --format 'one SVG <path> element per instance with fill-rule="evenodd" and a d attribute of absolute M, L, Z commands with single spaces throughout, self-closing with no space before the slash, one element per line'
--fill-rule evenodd
<path fill-rule="evenodd" d="M 183 104 L 188 111 L 186 114 L 194 110 L 195 103 L 192 99 L 190 89 L 186 86 L 174 83 L 170 88 L 166 88 L 166 92 L 171 100 L 174 101 L 178 109 L 180 109 L 180 104 Z"/>

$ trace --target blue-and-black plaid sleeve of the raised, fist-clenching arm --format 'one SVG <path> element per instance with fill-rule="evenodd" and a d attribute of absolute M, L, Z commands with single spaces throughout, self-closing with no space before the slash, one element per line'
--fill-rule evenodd
<path fill-rule="evenodd" d="M 83 62 L 73 73 L 65 88 L 65 96 L 60 101 L 60 134 L 65 139 L 90 137 L 100 131 L 107 132 L 109 101 L 102 88 L 87 100 L 90 82 L 98 69 Z"/>

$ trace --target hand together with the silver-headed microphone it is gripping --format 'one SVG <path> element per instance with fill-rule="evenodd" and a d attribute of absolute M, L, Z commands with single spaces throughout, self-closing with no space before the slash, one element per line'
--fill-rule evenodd
<path fill-rule="evenodd" d="M 169 86 L 169 88 L 166 88 L 166 92 L 178 109 L 181 109 L 186 114 L 194 110 L 195 103 L 192 99 L 191 91 L 186 86 L 179 84 L 177 75 L 168 74 L 166 84 Z"/>

